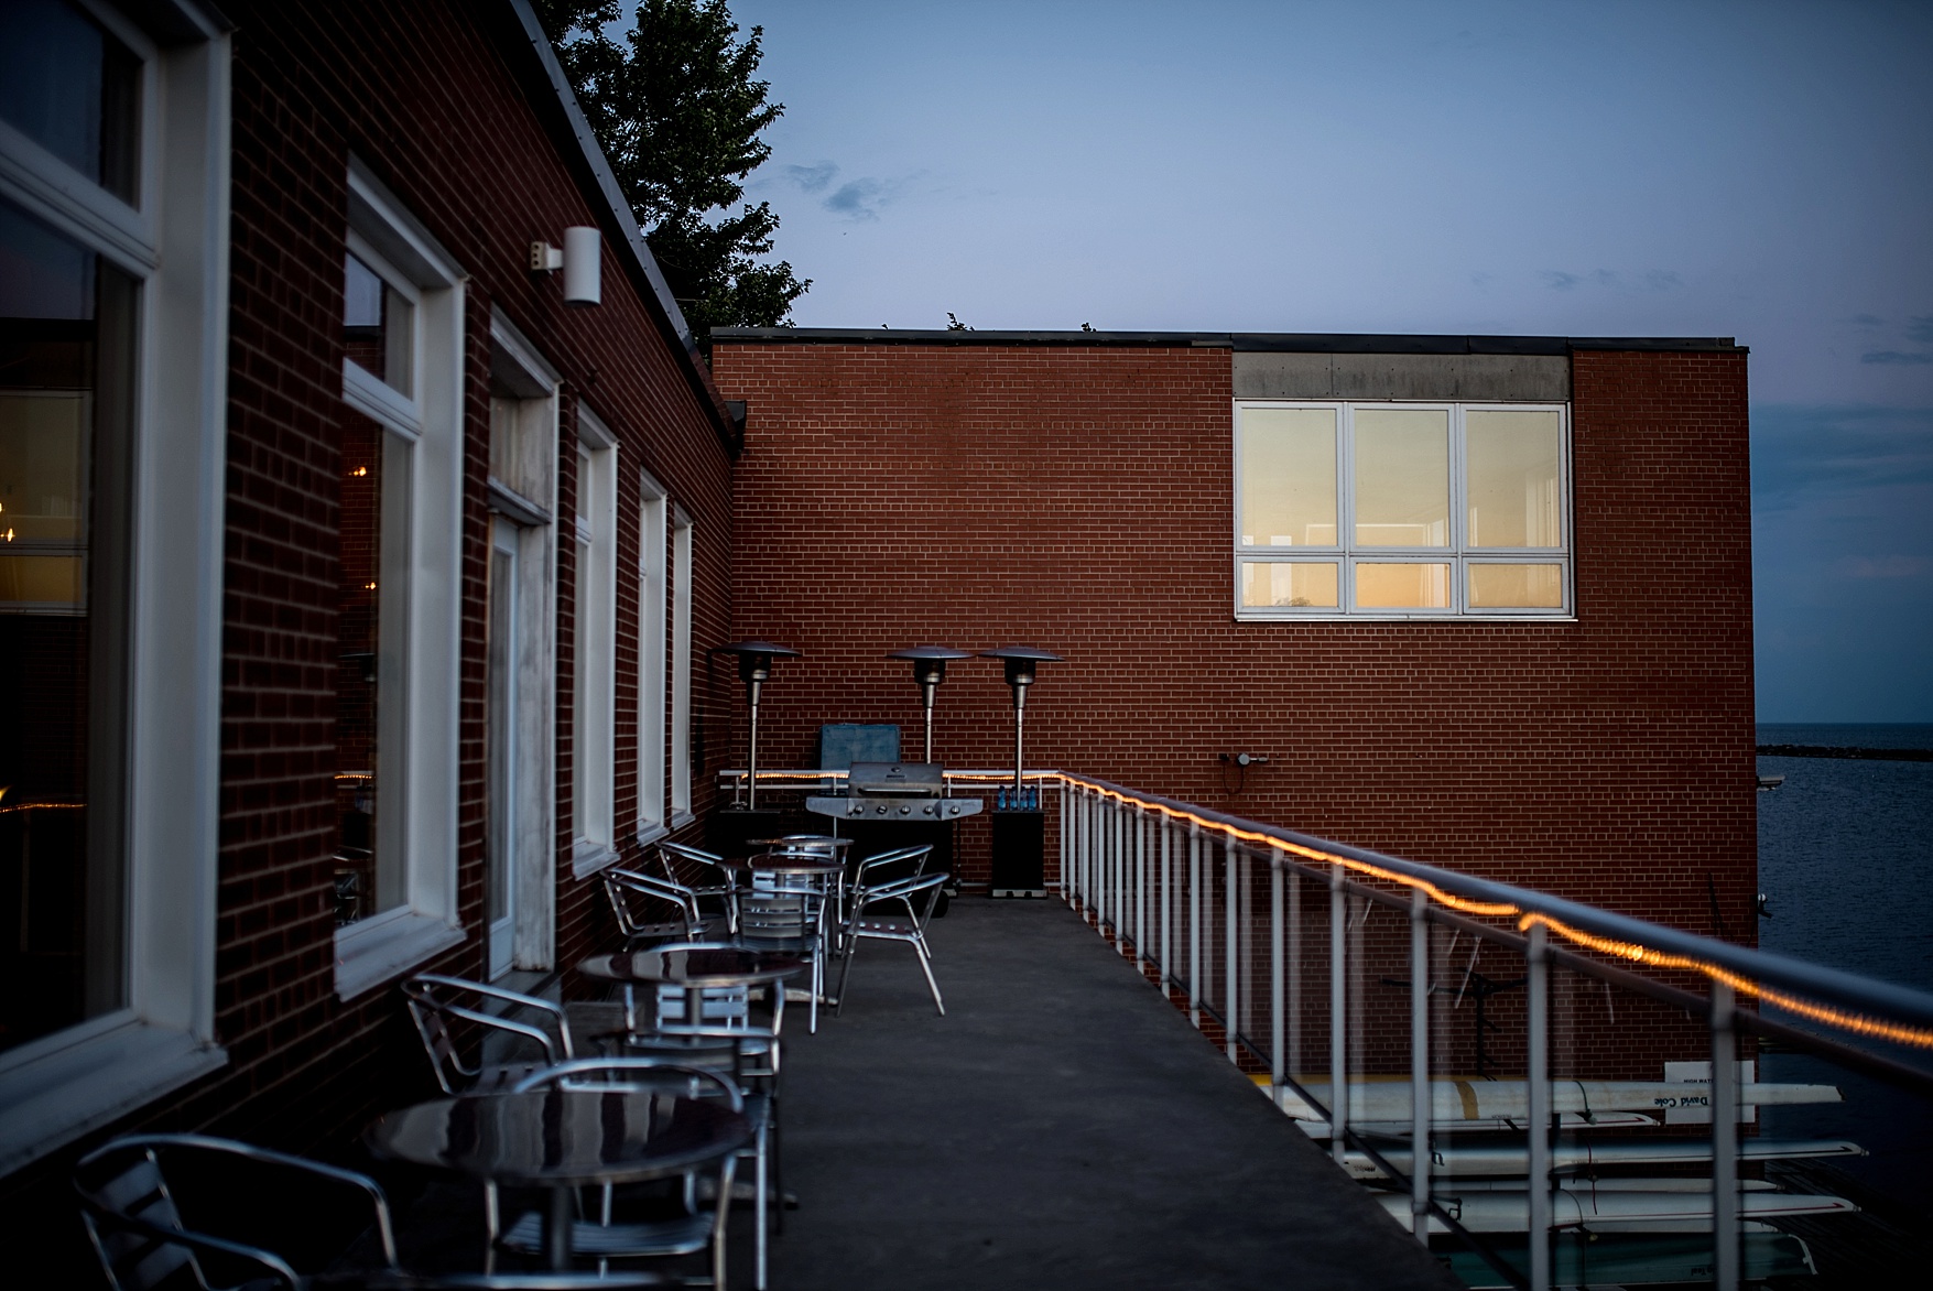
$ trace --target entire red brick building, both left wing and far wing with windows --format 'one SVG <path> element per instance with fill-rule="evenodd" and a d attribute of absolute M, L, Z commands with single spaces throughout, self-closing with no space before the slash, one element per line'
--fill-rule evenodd
<path fill-rule="evenodd" d="M 37 1247 L 79 1250 L 108 1134 L 327 1154 L 425 1092 L 400 976 L 607 947 L 597 874 L 742 765 L 738 636 L 804 651 L 765 765 L 910 729 L 889 649 L 1019 640 L 1067 657 L 1034 765 L 1749 935 L 1730 342 L 775 330 L 707 369 L 524 0 L 4 21 Z M 1003 765 L 1009 721 L 957 665 L 936 756 Z"/>

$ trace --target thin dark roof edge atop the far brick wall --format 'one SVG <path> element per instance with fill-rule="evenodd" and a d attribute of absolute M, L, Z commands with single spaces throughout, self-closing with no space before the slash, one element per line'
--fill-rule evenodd
<path fill-rule="evenodd" d="M 1003 332 L 889 327 L 719 327 L 711 344 L 1142 346 L 1249 354 L 1548 354 L 1573 350 L 1747 354 L 1732 336 L 1430 336 L 1398 332 Z"/>

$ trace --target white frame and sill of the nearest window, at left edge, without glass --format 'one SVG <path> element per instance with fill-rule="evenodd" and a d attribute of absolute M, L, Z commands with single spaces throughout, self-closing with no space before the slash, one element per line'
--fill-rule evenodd
<path fill-rule="evenodd" d="M 0 122 L 0 197 L 141 282 L 130 460 L 126 1005 L 0 1053 L 0 1175 L 220 1069 L 215 910 L 228 390 L 230 41 L 191 0 L 141 58 L 130 207 Z"/>

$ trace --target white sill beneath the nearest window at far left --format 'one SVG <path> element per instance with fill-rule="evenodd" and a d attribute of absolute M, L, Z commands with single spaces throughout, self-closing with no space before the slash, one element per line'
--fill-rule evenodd
<path fill-rule="evenodd" d="M 133 1018 L 0 1073 L 0 1175 L 228 1063 L 220 1046 Z"/>

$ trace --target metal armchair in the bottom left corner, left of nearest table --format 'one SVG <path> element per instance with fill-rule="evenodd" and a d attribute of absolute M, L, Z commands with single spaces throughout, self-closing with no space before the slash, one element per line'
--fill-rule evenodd
<path fill-rule="evenodd" d="M 203 1291 L 216 1287 L 307 1291 L 311 1285 L 313 1276 L 298 1272 L 282 1252 L 184 1227 L 176 1192 L 162 1171 L 162 1158 L 189 1156 L 199 1158 L 197 1165 L 201 1167 L 245 1169 L 251 1175 L 259 1171 L 261 1177 L 311 1187 L 319 1183 L 331 1191 L 342 1189 L 360 1194 L 367 1202 L 385 1272 L 400 1272 L 389 1200 L 373 1179 L 232 1138 L 128 1134 L 95 1148 L 73 1167 L 73 1189 L 81 1196 L 81 1223 L 87 1227 L 95 1254 L 101 1256 L 101 1270 L 112 1291 L 147 1291 L 162 1285 L 193 1285 Z M 367 1229 L 358 1227 L 356 1233 L 348 1233 L 342 1248 L 348 1248 L 363 1231 Z M 226 1276 L 220 1281 L 211 1281 L 211 1268 L 242 1274 L 242 1277 L 234 1283 L 226 1281 Z"/>

